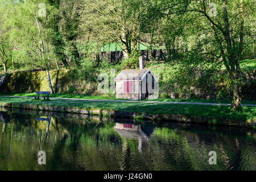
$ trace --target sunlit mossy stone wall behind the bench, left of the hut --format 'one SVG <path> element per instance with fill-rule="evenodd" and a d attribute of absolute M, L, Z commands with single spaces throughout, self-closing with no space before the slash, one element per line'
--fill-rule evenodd
<path fill-rule="evenodd" d="M 97 75 L 76 77 L 73 70 L 49 71 L 52 88 L 55 93 L 91 94 L 97 95 Z M 31 93 L 49 91 L 46 71 L 17 72 L 6 75 L 0 86 L 0 92 Z"/>

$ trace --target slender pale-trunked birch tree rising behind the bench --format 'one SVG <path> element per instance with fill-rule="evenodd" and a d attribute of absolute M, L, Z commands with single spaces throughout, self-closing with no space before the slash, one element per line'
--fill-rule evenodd
<path fill-rule="evenodd" d="M 51 6 L 46 6 L 51 9 Z M 49 90 L 53 93 L 51 78 L 49 76 L 49 69 L 51 69 L 51 61 L 49 52 L 52 49 L 49 40 L 51 40 L 51 28 L 48 28 L 48 16 L 47 14 L 41 15 L 39 2 L 35 0 L 28 0 L 26 3 L 20 4 L 16 11 L 15 23 L 20 28 L 21 35 L 24 39 L 29 40 L 30 51 L 35 53 L 35 56 L 40 60 L 41 69 L 47 72 L 47 81 L 49 84 Z M 23 16 L 20 16 L 22 14 Z M 19 22 L 23 23 L 20 24 Z M 26 23 L 24 23 L 26 22 Z M 17 34 L 20 35 L 20 34 Z M 28 46 L 23 44 L 22 46 Z M 31 54 L 31 52 L 28 52 Z"/>

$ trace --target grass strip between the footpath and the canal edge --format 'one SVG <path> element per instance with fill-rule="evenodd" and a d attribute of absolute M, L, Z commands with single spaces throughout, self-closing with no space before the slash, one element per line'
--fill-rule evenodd
<path fill-rule="evenodd" d="M 15 104 L 32 104 L 43 106 L 76 107 L 84 109 L 105 109 L 116 111 L 133 111 L 151 114 L 181 114 L 191 117 L 209 117 L 216 119 L 256 119 L 256 107 L 243 106 L 242 111 L 234 111 L 230 106 L 159 104 L 141 102 L 111 101 L 73 101 L 73 100 L 34 100 L 34 98 L 0 97 L 0 102 Z"/>

